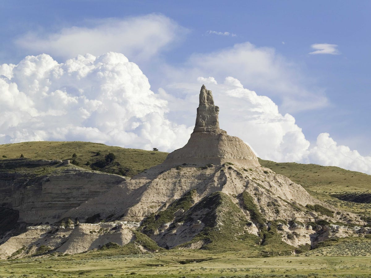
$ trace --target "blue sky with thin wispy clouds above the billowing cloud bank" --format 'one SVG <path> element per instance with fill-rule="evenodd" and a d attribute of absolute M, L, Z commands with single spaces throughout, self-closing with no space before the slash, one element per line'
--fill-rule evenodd
<path fill-rule="evenodd" d="M 17 65 L 27 55 L 42 53 L 65 63 L 77 54 L 122 52 L 147 76 L 155 95 L 165 91 L 162 98 L 168 105 L 190 99 L 191 91 L 199 86 L 198 76 L 216 79 L 220 86 L 212 88 L 214 95 L 227 86 L 221 85 L 224 78 L 232 76 L 244 89 L 270 98 L 280 115 L 292 115 L 311 143 L 308 150 L 316 146 L 319 134 L 328 133 L 337 146 L 370 157 L 370 10 L 370 1 L 5 0 L 0 3 L 0 65 Z M 162 25 L 156 25 L 152 35 L 151 28 L 128 30 L 141 26 L 143 20 Z M 116 34 L 117 42 L 111 37 L 93 47 L 94 32 L 115 33 L 112 28 L 121 23 L 126 24 L 122 28 L 127 37 Z M 147 31 L 148 37 L 141 39 Z M 83 34 L 85 40 L 92 34 L 92 42 L 53 43 L 66 33 Z M 323 48 L 325 53 L 310 54 Z M 256 61 L 250 63 L 251 59 Z M 167 120 L 187 128 L 193 124 L 193 114 L 166 109 Z M 233 119 L 233 107 L 224 109 Z M 234 135 L 233 129 L 223 128 Z M 8 141 L 15 138 L 9 136 Z M 22 138 L 27 140 L 27 136 Z M 54 137 L 42 137 L 50 138 Z M 247 135 L 243 140 L 254 141 Z M 261 148 L 251 144 L 256 150 Z M 280 157 L 267 154 L 267 158 Z M 310 156 L 297 160 L 313 162 Z"/>

